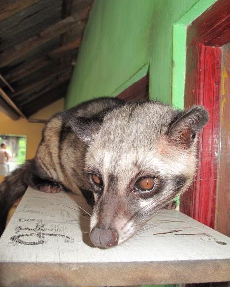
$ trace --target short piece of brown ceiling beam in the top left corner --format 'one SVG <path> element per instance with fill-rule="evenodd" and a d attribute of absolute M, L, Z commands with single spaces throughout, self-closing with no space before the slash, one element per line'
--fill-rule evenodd
<path fill-rule="evenodd" d="M 7 4 L 1 6 L 0 21 L 3 21 L 31 5 L 34 5 L 38 1 L 40 0 L 17 0 L 13 2 L 11 1 L 12 3 L 9 3 L 9 0 L 5 1 Z"/>

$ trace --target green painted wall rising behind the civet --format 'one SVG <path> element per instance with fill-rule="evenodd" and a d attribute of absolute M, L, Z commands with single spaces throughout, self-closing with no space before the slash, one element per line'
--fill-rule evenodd
<path fill-rule="evenodd" d="M 207 9 L 207 3 L 214 1 L 96 0 L 66 97 L 66 108 L 97 96 L 115 96 L 144 76 L 148 68 L 151 98 L 182 106 L 183 94 L 172 99 L 173 25 L 191 10 L 196 11 L 197 17 L 199 11 Z M 197 11 L 198 4 L 201 7 Z M 180 49 L 183 54 L 184 48 L 184 42 L 177 45 L 177 60 Z M 175 65 L 177 62 L 174 68 Z M 178 61 L 178 65 L 184 64 Z M 180 77 L 175 91 L 182 93 L 184 79 L 183 75 Z"/>

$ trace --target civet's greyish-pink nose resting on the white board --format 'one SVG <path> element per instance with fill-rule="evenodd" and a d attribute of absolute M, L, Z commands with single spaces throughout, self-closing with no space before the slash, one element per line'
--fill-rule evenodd
<path fill-rule="evenodd" d="M 118 243 L 118 233 L 115 229 L 94 227 L 90 233 L 92 243 L 97 247 L 110 248 Z"/>

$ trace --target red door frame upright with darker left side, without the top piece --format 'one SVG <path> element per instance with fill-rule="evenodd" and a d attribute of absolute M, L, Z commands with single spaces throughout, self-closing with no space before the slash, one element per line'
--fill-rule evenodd
<path fill-rule="evenodd" d="M 200 134 L 199 164 L 191 189 L 182 196 L 180 210 L 214 227 L 219 148 L 221 49 L 192 44 L 187 50 L 185 106 L 204 105 L 210 116 Z"/>

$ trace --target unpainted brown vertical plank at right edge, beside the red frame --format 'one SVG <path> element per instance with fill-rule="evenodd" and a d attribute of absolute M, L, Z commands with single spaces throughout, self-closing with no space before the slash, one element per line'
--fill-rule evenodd
<path fill-rule="evenodd" d="M 223 47 L 220 115 L 220 158 L 215 229 L 230 236 L 230 44 Z"/>

